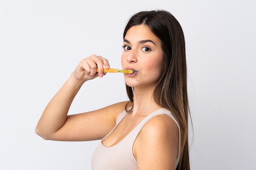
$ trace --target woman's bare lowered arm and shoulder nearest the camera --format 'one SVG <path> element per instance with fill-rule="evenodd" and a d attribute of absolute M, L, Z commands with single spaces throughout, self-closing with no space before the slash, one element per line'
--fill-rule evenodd
<path fill-rule="evenodd" d="M 133 146 L 138 170 L 175 170 L 179 131 L 166 115 L 150 119 L 141 129 Z"/>

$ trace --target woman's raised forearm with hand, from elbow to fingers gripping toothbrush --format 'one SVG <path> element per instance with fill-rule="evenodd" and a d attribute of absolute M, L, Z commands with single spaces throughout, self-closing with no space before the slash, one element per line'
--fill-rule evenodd
<path fill-rule="evenodd" d="M 67 82 L 46 106 L 36 126 L 36 133 L 39 136 L 44 139 L 56 139 L 53 135 L 65 124 L 68 110 L 79 89 L 84 82 L 103 77 L 106 74 L 103 72 L 103 65 L 107 69 L 110 68 L 108 60 L 100 55 L 92 55 L 81 60 Z"/>

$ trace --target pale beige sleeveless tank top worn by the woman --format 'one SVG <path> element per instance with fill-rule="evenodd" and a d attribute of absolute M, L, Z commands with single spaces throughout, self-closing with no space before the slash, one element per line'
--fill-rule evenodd
<path fill-rule="evenodd" d="M 108 135 L 115 130 L 121 120 L 128 114 L 125 110 L 117 117 L 116 126 L 108 133 Z M 135 139 L 139 135 L 141 128 L 152 117 L 157 115 L 168 115 L 175 121 L 179 129 L 179 150 L 176 158 L 175 169 L 180 161 L 180 126 L 177 123 L 175 116 L 167 109 L 160 108 L 153 113 L 146 116 L 122 141 L 115 146 L 105 147 L 102 141 L 108 136 L 104 137 L 99 146 L 92 155 L 91 167 L 92 170 L 137 170 L 137 161 L 134 158 L 132 147 Z"/>

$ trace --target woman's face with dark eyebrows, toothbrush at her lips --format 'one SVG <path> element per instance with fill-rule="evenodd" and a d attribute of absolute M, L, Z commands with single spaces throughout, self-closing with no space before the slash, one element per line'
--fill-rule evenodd
<path fill-rule="evenodd" d="M 121 57 L 123 69 L 134 70 L 124 74 L 130 87 L 155 87 L 163 71 L 163 50 L 161 40 L 146 25 L 128 29 L 124 38 L 124 52 Z"/>

